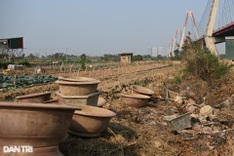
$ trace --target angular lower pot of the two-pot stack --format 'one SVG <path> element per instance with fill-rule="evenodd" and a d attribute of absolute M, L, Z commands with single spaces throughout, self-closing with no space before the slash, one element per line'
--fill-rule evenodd
<path fill-rule="evenodd" d="M 83 105 L 97 106 L 98 97 L 101 94 L 101 92 L 96 91 L 88 95 L 80 95 L 80 96 L 65 96 L 62 95 L 59 91 L 55 92 L 55 94 L 58 96 L 59 104 L 74 105 L 74 106 L 76 106 L 77 104 L 83 104 Z"/>

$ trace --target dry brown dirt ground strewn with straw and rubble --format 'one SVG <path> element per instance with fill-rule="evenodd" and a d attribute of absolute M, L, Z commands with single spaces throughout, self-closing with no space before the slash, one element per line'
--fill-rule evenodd
<path fill-rule="evenodd" d="M 141 67 L 141 68 L 139 68 Z M 107 100 L 104 108 L 116 112 L 108 128 L 96 138 L 68 136 L 60 151 L 69 156 L 231 156 L 234 155 L 233 76 L 214 82 L 187 78 L 180 84 L 175 80 L 181 65 L 158 63 L 130 66 L 126 72 L 98 74 L 98 90 Z M 58 75 L 56 75 L 58 76 Z M 92 74 L 89 76 L 92 77 Z M 132 85 L 152 89 L 155 94 L 145 107 L 124 104 L 121 94 L 131 92 Z M 16 96 L 56 91 L 55 83 L 2 92 L 1 101 L 13 101 Z M 178 93 L 176 99 L 167 97 L 168 90 Z M 228 102 L 225 102 L 225 100 Z M 192 101 L 192 102 L 191 102 Z M 193 107 L 189 104 L 192 103 Z M 197 117 L 206 105 L 213 108 L 210 116 Z M 165 117 L 183 115 L 192 110 L 191 127 L 178 132 Z"/>

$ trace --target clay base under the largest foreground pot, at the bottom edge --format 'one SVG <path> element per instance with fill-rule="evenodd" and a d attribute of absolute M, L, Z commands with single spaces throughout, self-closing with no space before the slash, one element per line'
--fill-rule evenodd
<path fill-rule="evenodd" d="M 26 152 L 26 149 L 24 149 L 24 152 L 22 152 L 22 148 L 20 150 L 21 152 L 3 153 L 1 152 L 3 151 L 3 147 L 0 147 L 1 156 L 63 156 L 63 154 L 59 151 L 58 146 L 32 148 L 33 152 L 29 150 Z"/>

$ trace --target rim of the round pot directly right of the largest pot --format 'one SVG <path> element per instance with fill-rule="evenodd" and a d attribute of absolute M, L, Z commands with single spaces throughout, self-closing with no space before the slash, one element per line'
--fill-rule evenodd
<path fill-rule="evenodd" d="M 105 108 L 100 108 L 97 106 L 89 106 L 89 105 L 82 105 L 82 104 L 77 104 L 77 106 L 80 108 L 80 110 L 76 110 L 74 112 L 74 115 L 83 115 L 83 116 L 91 116 L 91 117 L 114 117 L 116 116 L 116 113 Z M 82 110 L 83 108 L 88 108 L 88 109 L 95 109 L 97 112 L 103 112 L 105 111 L 106 114 L 104 113 L 97 113 L 97 112 L 86 112 L 85 110 Z"/>

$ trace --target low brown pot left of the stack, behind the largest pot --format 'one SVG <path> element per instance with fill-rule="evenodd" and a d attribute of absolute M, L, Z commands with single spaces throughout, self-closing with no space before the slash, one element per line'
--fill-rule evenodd
<path fill-rule="evenodd" d="M 36 94 L 28 94 L 23 96 L 17 96 L 15 100 L 17 102 L 31 102 L 31 103 L 40 103 L 43 101 L 50 100 L 51 92 L 45 93 L 36 93 Z"/>

